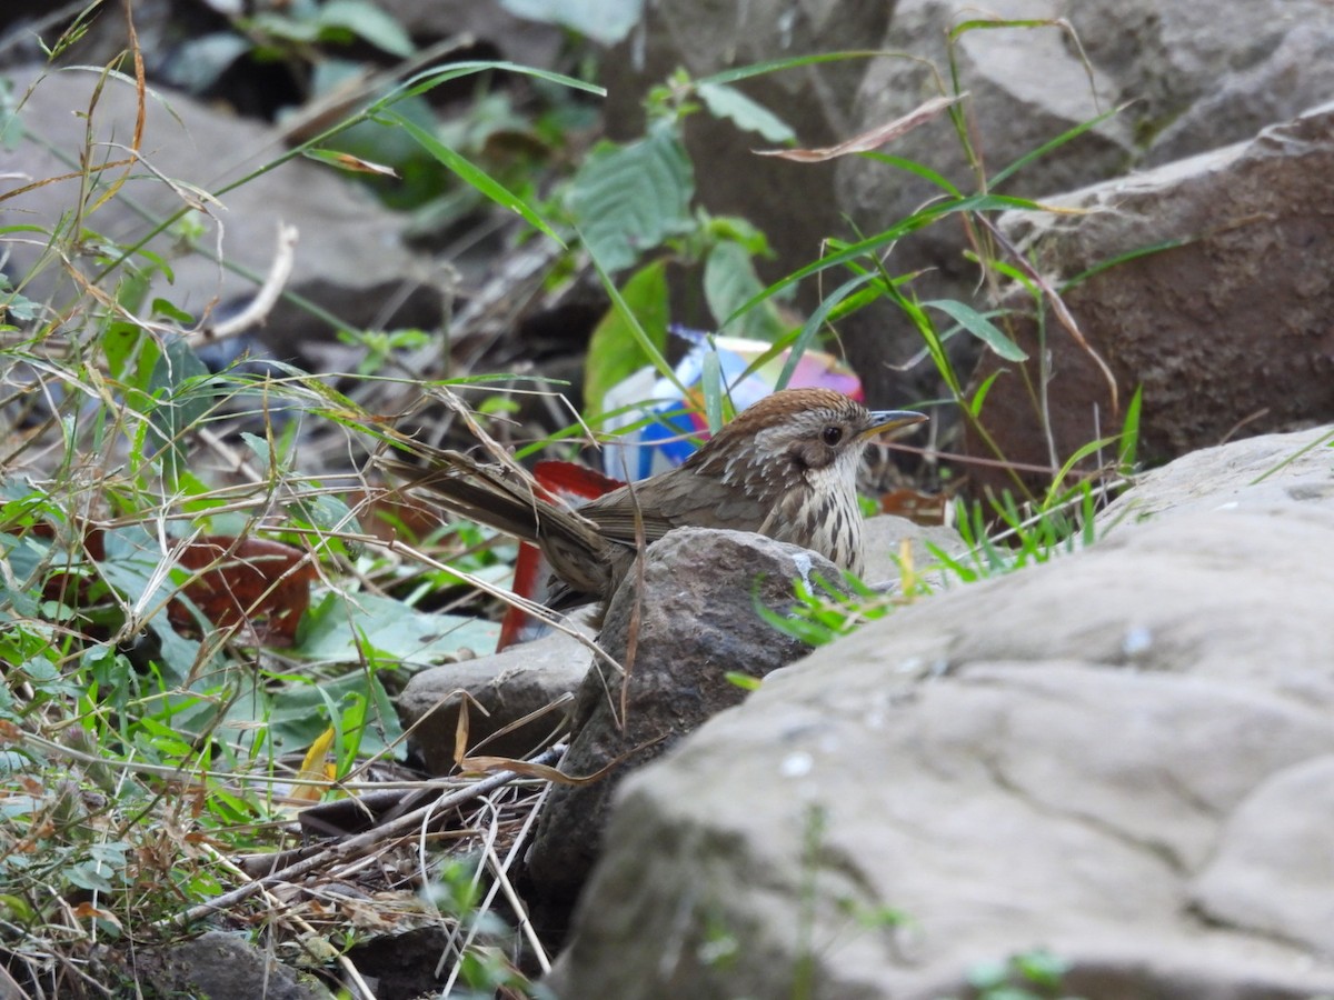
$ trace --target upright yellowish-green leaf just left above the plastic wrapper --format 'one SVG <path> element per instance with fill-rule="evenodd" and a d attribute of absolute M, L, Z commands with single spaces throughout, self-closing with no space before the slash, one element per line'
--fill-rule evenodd
<path fill-rule="evenodd" d="M 620 289 L 626 307 L 659 355 L 667 345 L 667 267 L 655 260 L 636 271 Z M 620 309 L 611 308 L 592 332 L 584 363 L 584 409 L 600 413 L 607 392 L 622 379 L 652 365 L 652 356 L 639 344 L 635 331 Z"/>

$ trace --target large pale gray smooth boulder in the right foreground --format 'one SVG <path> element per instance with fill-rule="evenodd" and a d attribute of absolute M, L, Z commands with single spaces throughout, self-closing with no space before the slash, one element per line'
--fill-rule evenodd
<path fill-rule="evenodd" d="M 1091 549 L 874 623 L 630 777 L 559 995 L 928 1000 L 1039 945 L 1089 1000 L 1334 991 L 1334 473 L 1282 464 L 1319 440 L 1158 473 Z"/>

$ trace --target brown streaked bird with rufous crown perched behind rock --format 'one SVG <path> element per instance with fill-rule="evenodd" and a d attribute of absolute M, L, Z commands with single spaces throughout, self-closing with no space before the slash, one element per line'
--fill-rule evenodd
<path fill-rule="evenodd" d="M 376 464 L 451 513 L 536 544 L 558 583 L 547 601 L 552 609 L 594 601 L 604 608 L 640 547 L 680 527 L 758 532 L 860 573 L 862 453 L 875 436 L 924 420 L 911 409 L 870 411 L 834 389 L 780 389 L 742 411 L 676 468 L 578 509 L 512 460 L 488 464 L 404 443 L 427 468 L 387 453 Z M 480 432 L 475 424 L 474 431 Z"/>

